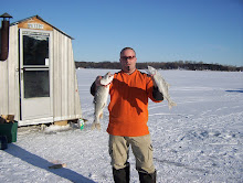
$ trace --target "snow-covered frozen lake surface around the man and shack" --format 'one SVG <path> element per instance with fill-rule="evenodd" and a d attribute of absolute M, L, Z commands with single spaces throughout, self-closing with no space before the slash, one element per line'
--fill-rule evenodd
<path fill-rule="evenodd" d="M 102 130 L 91 130 L 94 106 L 89 86 L 108 69 L 76 72 L 83 117 L 88 120 L 85 128 L 19 128 L 18 141 L 0 151 L 1 183 L 113 182 L 107 108 Z M 243 73 L 160 72 L 178 106 L 169 110 L 166 100 L 149 101 L 157 182 L 243 182 Z M 66 168 L 49 169 L 53 163 L 66 163 Z M 133 154 L 130 163 L 130 182 L 137 183 Z"/>

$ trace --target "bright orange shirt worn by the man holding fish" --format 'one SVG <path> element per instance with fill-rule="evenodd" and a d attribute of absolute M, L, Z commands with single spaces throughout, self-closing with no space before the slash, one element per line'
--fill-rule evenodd
<path fill-rule="evenodd" d="M 137 137 L 149 134 L 148 98 L 152 97 L 152 80 L 147 74 L 135 71 L 128 75 L 123 71 L 114 74 L 109 86 L 110 103 L 107 132 L 113 136 Z"/>

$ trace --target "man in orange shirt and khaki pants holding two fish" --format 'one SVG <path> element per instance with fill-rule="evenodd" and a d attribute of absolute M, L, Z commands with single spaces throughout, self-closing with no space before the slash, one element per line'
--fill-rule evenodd
<path fill-rule="evenodd" d="M 107 128 L 114 181 L 116 183 L 129 182 L 128 149 L 131 146 L 140 182 L 155 183 L 156 170 L 147 126 L 148 98 L 160 103 L 163 96 L 154 85 L 152 76 L 137 71 L 136 53 L 131 47 L 122 50 L 119 61 L 122 71 L 114 74 L 114 79 L 109 85 Z M 101 78 L 98 76 L 93 83 L 92 95 L 95 95 L 96 86 L 101 85 Z"/>

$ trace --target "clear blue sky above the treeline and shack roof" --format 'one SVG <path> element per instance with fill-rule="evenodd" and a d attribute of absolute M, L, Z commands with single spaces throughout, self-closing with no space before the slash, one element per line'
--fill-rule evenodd
<path fill-rule="evenodd" d="M 1 0 L 15 22 L 40 15 L 73 40 L 75 61 L 196 61 L 243 66 L 243 0 Z"/>

